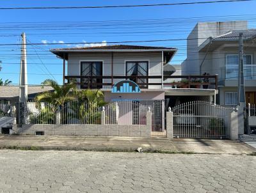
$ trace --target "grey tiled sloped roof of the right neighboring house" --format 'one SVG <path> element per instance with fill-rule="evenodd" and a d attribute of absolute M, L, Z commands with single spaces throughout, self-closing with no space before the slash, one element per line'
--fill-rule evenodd
<path fill-rule="evenodd" d="M 239 33 L 243 33 L 243 40 L 251 40 L 256 38 L 256 29 L 246 29 L 228 31 L 223 35 L 212 38 L 212 41 L 238 41 Z"/>

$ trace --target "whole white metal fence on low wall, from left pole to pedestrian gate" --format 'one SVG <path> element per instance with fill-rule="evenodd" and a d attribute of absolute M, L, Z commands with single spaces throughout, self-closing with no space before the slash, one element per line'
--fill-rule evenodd
<path fill-rule="evenodd" d="M 152 111 L 152 132 L 164 134 L 163 101 L 120 100 L 104 105 L 105 124 L 146 125 Z M 56 107 L 46 102 L 17 104 L 17 123 L 22 124 L 101 124 L 102 106 L 79 101 Z M 20 119 L 19 119 L 20 118 Z"/>

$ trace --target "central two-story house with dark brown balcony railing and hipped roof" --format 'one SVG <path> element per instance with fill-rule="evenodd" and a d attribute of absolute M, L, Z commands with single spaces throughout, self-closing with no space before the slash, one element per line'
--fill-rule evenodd
<path fill-rule="evenodd" d="M 215 75 L 209 76 L 213 82 L 205 83 L 209 84 L 206 85 L 207 89 L 204 89 L 201 83 L 193 81 L 196 76 L 173 75 L 170 80 L 172 82 L 168 82 L 173 70 L 167 70 L 166 75 L 164 66 L 177 52 L 175 48 L 106 45 L 52 49 L 51 52 L 63 59 L 63 84 L 76 80 L 79 89 L 101 89 L 106 102 L 128 100 L 136 105 L 147 104 L 147 107 L 151 107 L 150 111 L 153 111 L 153 124 L 157 125 L 157 130 L 164 129 L 164 112 L 170 105 L 180 104 L 182 100 L 215 101 Z M 173 79 L 178 82 L 173 82 Z M 124 80 L 125 83 L 120 82 Z M 184 82 L 187 87 L 180 88 Z M 177 98 L 182 100 L 177 102 Z M 120 103 L 115 107 L 115 113 L 118 114 L 116 116 L 119 117 L 118 123 L 138 123 L 138 116 L 145 116 L 147 109 L 139 112 L 136 105 L 127 107 L 126 104 L 122 106 Z M 132 117 L 129 123 L 125 122 L 127 116 Z"/>

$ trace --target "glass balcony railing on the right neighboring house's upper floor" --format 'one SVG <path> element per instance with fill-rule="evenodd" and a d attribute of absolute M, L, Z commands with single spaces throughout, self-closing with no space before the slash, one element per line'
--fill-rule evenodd
<path fill-rule="evenodd" d="M 237 80 L 238 65 L 228 65 L 221 68 L 221 79 Z M 256 65 L 244 65 L 244 80 L 256 80 Z"/>

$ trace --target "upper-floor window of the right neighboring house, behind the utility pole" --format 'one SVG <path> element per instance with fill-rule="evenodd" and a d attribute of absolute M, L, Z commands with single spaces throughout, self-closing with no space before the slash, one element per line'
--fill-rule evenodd
<path fill-rule="evenodd" d="M 226 58 L 226 79 L 237 80 L 239 57 L 237 54 L 228 54 Z M 256 70 L 256 68 L 255 68 Z M 255 77 L 254 66 L 252 65 L 252 55 L 244 56 L 244 79 Z"/>

